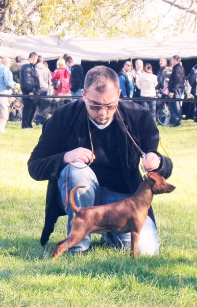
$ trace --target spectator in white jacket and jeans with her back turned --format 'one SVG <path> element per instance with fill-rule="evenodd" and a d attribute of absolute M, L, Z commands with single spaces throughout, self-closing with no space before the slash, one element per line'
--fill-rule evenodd
<path fill-rule="evenodd" d="M 153 74 L 153 67 L 150 63 L 144 65 L 144 72 L 136 80 L 136 85 L 140 89 L 140 96 L 142 98 L 156 98 L 155 86 L 157 85 L 157 76 Z M 143 101 L 141 103 L 143 107 L 150 109 L 153 115 L 154 121 L 156 122 L 156 101 Z"/>

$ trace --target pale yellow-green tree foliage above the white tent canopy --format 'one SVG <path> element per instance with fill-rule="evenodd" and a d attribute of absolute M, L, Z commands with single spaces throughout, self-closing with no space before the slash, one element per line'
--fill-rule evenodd
<path fill-rule="evenodd" d="M 167 3 L 169 10 L 177 7 L 184 14 L 181 21 L 176 21 L 175 32 L 186 27 L 196 30 L 196 0 L 158 2 Z M 152 3 L 151 0 L 0 0 L 0 20 L 3 20 L 0 29 L 17 34 L 58 33 L 60 37 L 151 36 L 165 18 L 157 14 L 153 18 L 146 13 Z"/>

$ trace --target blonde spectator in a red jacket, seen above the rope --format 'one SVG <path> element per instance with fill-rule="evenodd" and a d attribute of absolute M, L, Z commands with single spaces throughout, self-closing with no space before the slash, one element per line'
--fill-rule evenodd
<path fill-rule="evenodd" d="M 70 95 L 70 74 L 66 69 L 66 63 L 63 58 L 59 58 L 57 61 L 57 69 L 52 75 L 52 82 L 59 79 L 60 85 L 57 90 L 55 90 L 55 95 Z"/>

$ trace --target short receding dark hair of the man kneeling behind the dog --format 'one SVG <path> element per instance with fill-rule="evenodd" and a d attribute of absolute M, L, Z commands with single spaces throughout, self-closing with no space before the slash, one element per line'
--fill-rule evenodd
<path fill-rule="evenodd" d="M 104 92 L 109 81 L 113 82 L 117 89 L 119 89 L 119 78 L 113 69 L 106 66 L 96 66 L 87 72 L 84 90 L 87 91 L 92 84 L 95 84 L 96 91 Z"/>

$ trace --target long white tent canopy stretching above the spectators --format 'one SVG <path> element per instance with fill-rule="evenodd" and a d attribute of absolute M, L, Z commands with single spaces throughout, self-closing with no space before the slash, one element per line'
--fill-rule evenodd
<path fill-rule="evenodd" d="M 75 62 L 112 61 L 128 58 L 159 59 L 178 54 L 182 58 L 197 57 L 197 34 L 154 39 L 144 37 L 76 38 L 58 39 L 57 35 L 17 36 L 0 32 L 0 57 L 17 55 L 27 59 L 35 51 L 45 61 L 54 60 L 69 53 Z"/>

